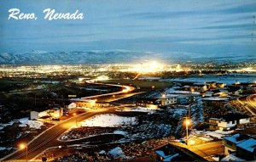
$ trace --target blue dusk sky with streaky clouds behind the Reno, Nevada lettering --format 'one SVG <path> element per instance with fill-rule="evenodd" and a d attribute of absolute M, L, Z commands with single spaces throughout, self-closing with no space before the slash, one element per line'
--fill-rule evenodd
<path fill-rule="evenodd" d="M 255 0 L 3 0 L 0 8 L 0 52 L 125 49 L 256 55 Z M 8 20 L 10 8 L 35 13 L 38 20 Z M 84 20 L 44 20 L 45 8 L 56 13 L 79 9 Z"/>

